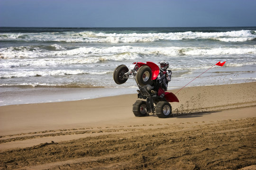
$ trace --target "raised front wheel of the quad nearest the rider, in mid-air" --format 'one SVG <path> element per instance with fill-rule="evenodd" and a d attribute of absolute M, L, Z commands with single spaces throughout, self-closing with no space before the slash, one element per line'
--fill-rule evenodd
<path fill-rule="evenodd" d="M 141 66 L 136 75 L 136 81 L 139 85 L 147 85 L 151 83 L 152 71 L 151 68 L 144 65 Z"/>

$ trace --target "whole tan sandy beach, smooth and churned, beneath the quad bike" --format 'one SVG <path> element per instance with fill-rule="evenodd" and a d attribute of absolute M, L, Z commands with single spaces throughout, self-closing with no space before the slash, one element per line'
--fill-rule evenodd
<path fill-rule="evenodd" d="M 137 94 L 1 106 L 0 169 L 256 169 L 256 82 L 176 95 L 168 119 L 135 117 Z"/>

